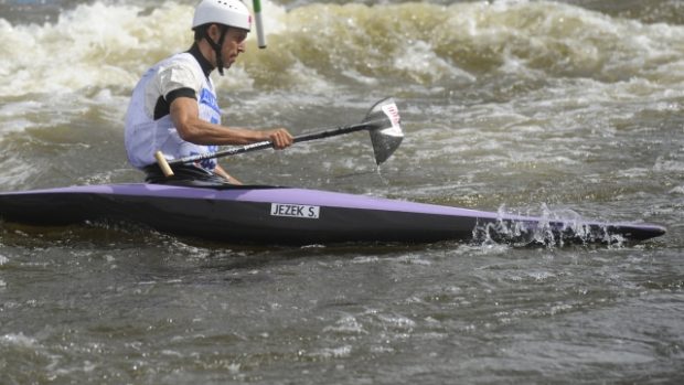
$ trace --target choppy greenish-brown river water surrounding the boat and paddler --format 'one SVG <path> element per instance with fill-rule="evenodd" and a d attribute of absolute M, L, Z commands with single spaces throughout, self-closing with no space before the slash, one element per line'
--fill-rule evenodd
<path fill-rule="evenodd" d="M 3 191 L 141 181 L 122 117 L 193 1 L 0 0 Z M 0 384 L 684 379 L 684 3 L 264 2 L 225 121 L 303 133 L 385 96 L 406 138 L 223 160 L 249 183 L 649 222 L 642 244 L 241 246 L 0 224 Z"/>

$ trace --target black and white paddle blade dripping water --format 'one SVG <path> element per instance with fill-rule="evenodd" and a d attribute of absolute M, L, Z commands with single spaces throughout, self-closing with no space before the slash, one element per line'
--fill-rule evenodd
<path fill-rule="evenodd" d="M 399 148 L 404 139 L 400 121 L 399 109 L 391 97 L 376 103 L 363 119 L 363 122 L 370 126 L 368 131 L 377 165 L 384 163 Z"/>

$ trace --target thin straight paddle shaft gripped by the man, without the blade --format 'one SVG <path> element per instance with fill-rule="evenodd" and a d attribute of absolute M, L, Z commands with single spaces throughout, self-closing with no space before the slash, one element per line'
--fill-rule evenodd
<path fill-rule="evenodd" d="M 300 135 L 293 138 L 293 142 L 299 143 L 302 141 L 336 137 L 339 135 L 373 129 L 373 128 L 377 128 L 377 124 L 383 122 L 383 121 L 385 121 L 385 119 L 378 119 L 377 121 L 376 120 L 364 121 L 357 125 L 341 126 L 341 127 L 336 127 L 336 128 L 320 131 L 320 132 Z M 259 141 L 259 142 L 243 146 L 243 147 L 234 147 L 234 148 L 229 148 L 229 149 L 225 149 L 225 150 L 216 151 L 216 152 L 200 153 L 196 156 L 189 156 L 189 157 L 183 157 L 183 158 L 178 158 L 178 159 L 172 159 L 172 160 L 164 160 L 164 162 L 169 165 L 180 164 L 180 163 L 190 163 L 190 162 L 197 162 L 197 161 L 205 160 L 205 159 L 229 157 L 229 156 L 236 156 L 238 153 L 258 151 L 258 150 L 265 150 L 265 149 L 271 149 L 271 148 L 274 148 L 274 145 L 270 141 L 266 140 L 266 141 Z M 160 160 L 159 157 L 157 154 L 156 157 L 157 157 L 157 160 L 159 161 Z M 163 159 L 163 156 L 162 156 L 162 159 Z M 162 165 L 161 163 L 162 162 L 160 162 L 160 165 Z"/>

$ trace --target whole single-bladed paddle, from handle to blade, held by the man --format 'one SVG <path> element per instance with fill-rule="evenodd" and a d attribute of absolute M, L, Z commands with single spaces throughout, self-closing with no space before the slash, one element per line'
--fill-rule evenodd
<path fill-rule="evenodd" d="M 349 132 L 368 130 L 371 133 L 371 142 L 373 143 L 373 153 L 375 154 L 375 162 L 380 165 L 385 162 L 392 153 L 399 147 L 402 139 L 404 139 L 404 132 L 402 131 L 399 109 L 394 103 L 393 98 L 385 98 L 377 101 L 361 124 L 351 126 L 341 126 L 333 129 L 307 133 L 295 137 L 295 142 L 309 141 L 314 139 L 330 138 Z M 154 153 L 157 163 L 161 168 L 161 171 L 165 177 L 172 177 L 173 164 L 196 162 L 204 159 L 222 158 L 227 156 L 235 156 L 243 152 L 257 151 L 272 148 L 270 141 L 260 141 L 243 147 L 229 148 L 222 151 L 200 153 L 196 156 L 189 156 L 178 159 L 167 160 L 161 151 Z"/>

